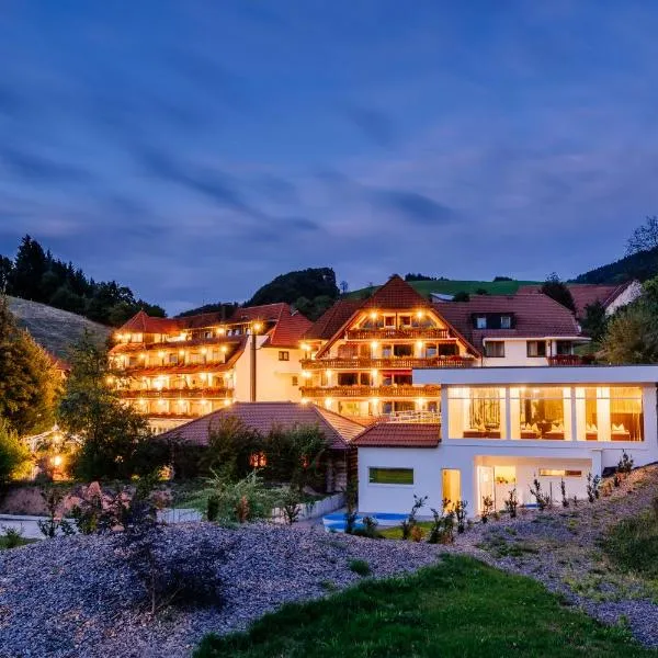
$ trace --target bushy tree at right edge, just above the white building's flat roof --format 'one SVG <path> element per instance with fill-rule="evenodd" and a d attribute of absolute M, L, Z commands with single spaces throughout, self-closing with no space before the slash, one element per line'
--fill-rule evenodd
<path fill-rule="evenodd" d="M 658 362 L 658 307 L 638 299 L 610 320 L 602 342 L 606 361 L 615 364 Z"/>

